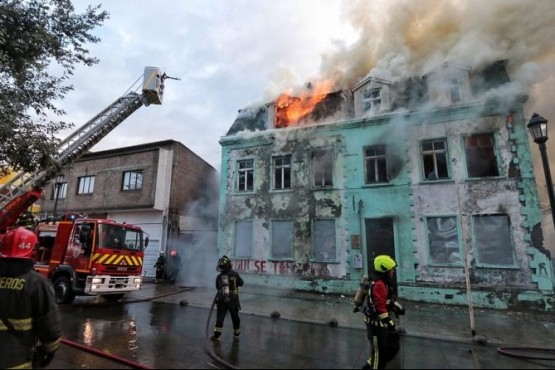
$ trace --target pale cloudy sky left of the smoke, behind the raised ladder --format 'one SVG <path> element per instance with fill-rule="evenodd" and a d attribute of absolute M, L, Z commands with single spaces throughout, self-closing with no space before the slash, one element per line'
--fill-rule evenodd
<path fill-rule="evenodd" d="M 82 12 L 100 1 L 74 4 Z M 117 0 L 102 8 L 110 19 L 90 46 L 100 63 L 76 71 L 75 90 L 61 104 L 67 119 L 84 124 L 145 66 L 159 67 L 181 79 L 166 80 L 163 104 L 140 108 L 92 150 L 174 139 L 218 171 L 218 141 L 238 109 L 305 82 L 318 73 L 321 53 L 355 35 L 338 0 Z"/>

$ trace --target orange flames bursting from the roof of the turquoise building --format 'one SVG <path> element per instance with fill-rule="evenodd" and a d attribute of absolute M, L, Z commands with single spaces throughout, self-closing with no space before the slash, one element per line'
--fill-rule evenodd
<path fill-rule="evenodd" d="M 275 103 L 275 127 L 281 128 L 298 124 L 331 92 L 334 82 L 334 80 L 324 80 L 317 84 L 309 84 L 308 89 L 298 97 L 292 96 L 291 90 L 282 93 Z"/>

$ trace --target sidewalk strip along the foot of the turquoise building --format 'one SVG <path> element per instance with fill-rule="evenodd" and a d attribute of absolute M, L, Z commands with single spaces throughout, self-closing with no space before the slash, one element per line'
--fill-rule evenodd
<path fill-rule="evenodd" d="M 134 296 L 171 292 L 181 288 L 169 283 L 146 283 Z M 150 291 L 150 292 L 149 292 Z M 193 288 L 161 297 L 160 301 L 210 308 L 215 291 Z M 353 313 L 352 297 L 283 289 L 244 286 L 240 290 L 241 314 L 279 317 L 364 329 L 361 313 Z M 408 336 L 462 342 L 487 342 L 497 346 L 525 346 L 555 349 L 555 315 L 474 308 L 474 331 L 468 307 L 403 301 L 406 314 L 399 328 Z M 474 334 L 474 335 L 473 335 Z"/>

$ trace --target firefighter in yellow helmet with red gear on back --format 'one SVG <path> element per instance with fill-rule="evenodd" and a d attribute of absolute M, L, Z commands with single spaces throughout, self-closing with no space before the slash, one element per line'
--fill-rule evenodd
<path fill-rule="evenodd" d="M 363 309 L 370 341 L 370 357 L 363 369 L 385 369 L 399 351 L 399 333 L 389 313 L 397 263 L 388 255 L 379 255 L 374 258 L 373 265 L 369 279 L 363 278 L 355 295 L 354 312 Z"/>

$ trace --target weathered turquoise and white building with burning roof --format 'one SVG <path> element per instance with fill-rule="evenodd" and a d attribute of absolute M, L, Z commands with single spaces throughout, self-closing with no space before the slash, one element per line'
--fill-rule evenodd
<path fill-rule="evenodd" d="M 219 253 L 251 284 L 346 295 L 388 253 L 405 299 L 553 310 L 525 99 L 491 94 L 507 81 L 504 62 L 446 63 L 367 77 L 291 125 L 275 102 L 240 110 Z"/>

